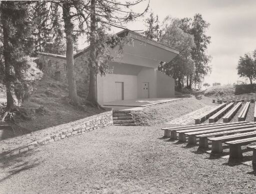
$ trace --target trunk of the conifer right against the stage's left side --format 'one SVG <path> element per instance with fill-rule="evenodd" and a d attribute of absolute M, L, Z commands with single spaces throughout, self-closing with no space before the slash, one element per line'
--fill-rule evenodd
<path fill-rule="evenodd" d="M 96 33 L 96 16 L 95 16 L 95 5 L 96 1 L 91 0 L 90 2 L 90 61 L 89 61 L 89 68 L 90 68 L 90 78 L 89 78 L 89 92 L 87 100 L 91 103 L 98 105 L 97 103 L 97 86 L 96 86 L 96 73 L 94 66 L 96 65 L 96 40 L 95 40 L 95 33 Z"/>

